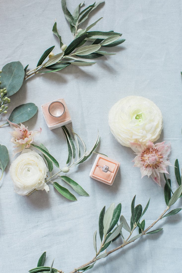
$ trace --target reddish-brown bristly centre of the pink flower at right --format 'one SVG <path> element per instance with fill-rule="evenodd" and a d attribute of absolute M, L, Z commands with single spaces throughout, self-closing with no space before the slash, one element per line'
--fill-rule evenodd
<path fill-rule="evenodd" d="M 141 161 L 144 164 L 145 168 L 153 168 L 156 169 L 163 162 L 163 156 L 158 153 L 156 148 L 146 148 L 141 155 Z"/>

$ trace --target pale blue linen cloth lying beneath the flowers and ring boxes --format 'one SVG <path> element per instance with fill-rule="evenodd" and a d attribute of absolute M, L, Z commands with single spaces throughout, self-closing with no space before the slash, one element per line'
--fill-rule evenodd
<path fill-rule="evenodd" d="M 67 2 L 70 11 L 79 4 L 77 0 Z M 92 4 L 92 1 L 86 1 L 86 4 Z M 0 9 L 1 68 L 19 60 L 24 67 L 29 64 L 32 69 L 44 50 L 53 45 L 55 54 L 59 53 L 58 40 L 52 34 L 55 18 L 64 43 L 68 44 L 72 39 L 60 0 L 1 0 Z M 37 143 L 44 143 L 62 166 L 67 157 L 64 135 L 60 128 L 48 129 L 40 106 L 63 97 L 70 110 L 73 128 L 83 137 L 87 147 L 92 146 L 99 129 L 99 151 L 121 163 L 117 178 L 112 187 L 89 178 L 96 158 L 93 155 L 69 173 L 90 197 L 78 197 L 77 202 L 70 202 L 51 185 L 48 194 L 38 191 L 29 197 L 19 196 L 13 192 L 8 172 L 13 161 L 10 127 L 0 128 L 0 143 L 8 147 L 10 154 L 0 188 L 1 272 L 27 272 L 36 266 L 43 251 L 47 251 L 47 265 L 55 258 L 55 268 L 69 272 L 94 256 L 93 233 L 98 230 L 99 213 L 104 205 L 121 202 L 122 214 L 130 221 L 133 196 L 136 194 L 136 203 L 142 206 L 151 197 L 145 214 L 146 225 L 157 219 L 166 207 L 164 181 L 160 188 L 148 177 L 141 179 L 139 169 L 131 162 L 135 156 L 132 150 L 121 146 L 110 133 L 108 112 L 124 96 L 139 95 L 154 101 L 164 120 L 160 141 L 171 141 L 171 163 L 174 165 L 178 158 L 182 164 L 181 1 L 106 0 L 104 7 L 94 12 L 88 23 L 100 17 L 103 19 L 94 30 L 122 32 L 126 39 L 121 46 L 108 48 L 117 55 L 97 59 L 94 66 L 70 66 L 60 73 L 28 79 L 11 97 L 10 110 L 26 102 L 38 106 L 38 114 L 25 124 L 32 130 L 42 127 Z M 2 115 L 0 118 L 2 123 Z M 169 172 L 175 188 L 174 168 L 170 167 Z M 174 207 L 181 205 L 182 200 L 179 200 Z M 165 218 L 156 225 L 156 228 L 164 228 L 161 233 L 138 239 L 98 262 L 92 272 L 181 272 L 181 221 L 180 213 Z"/>

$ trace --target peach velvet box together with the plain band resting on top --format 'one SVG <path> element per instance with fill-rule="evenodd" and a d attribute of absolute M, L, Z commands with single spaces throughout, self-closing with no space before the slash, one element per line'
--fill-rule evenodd
<path fill-rule="evenodd" d="M 64 99 L 57 99 L 41 105 L 41 109 L 50 130 L 71 123 L 70 113 Z"/>

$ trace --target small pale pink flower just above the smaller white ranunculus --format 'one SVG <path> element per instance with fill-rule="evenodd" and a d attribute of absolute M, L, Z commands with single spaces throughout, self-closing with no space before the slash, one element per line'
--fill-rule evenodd
<path fill-rule="evenodd" d="M 11 132 L 11 135 L 13 136 L 13 138 L 11 138 L 11 142 L 15 144 L 14 148 L 16 148 L 16 150 L 14 150 L 14 155 L 16 155 L 16 153 L 22 152 L 26 148 L 29 148 L 30 144 L 34 141 L 34 136 L 37 133 L 41 133 L 42 130 L 40 128 L 36 131 L 29 131 L 28 127 L 25 127 L 25 125 L 22 123 L 21 125 L 18 125 L 16 123 L 12 123 L 11 121 L 8 122 L 11 128 L 14 129 L 14 131 Z"/>

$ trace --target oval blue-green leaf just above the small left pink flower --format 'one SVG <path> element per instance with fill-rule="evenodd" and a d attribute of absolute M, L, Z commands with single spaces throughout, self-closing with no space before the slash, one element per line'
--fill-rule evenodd
<path fill-rule="evenodd" d="M 37 106 L 31 102 L 19 105 L 11 112 L 8 120 L 12 123 L 23 123 L 32 118 L 37 113 L 37 110 Z"/>

